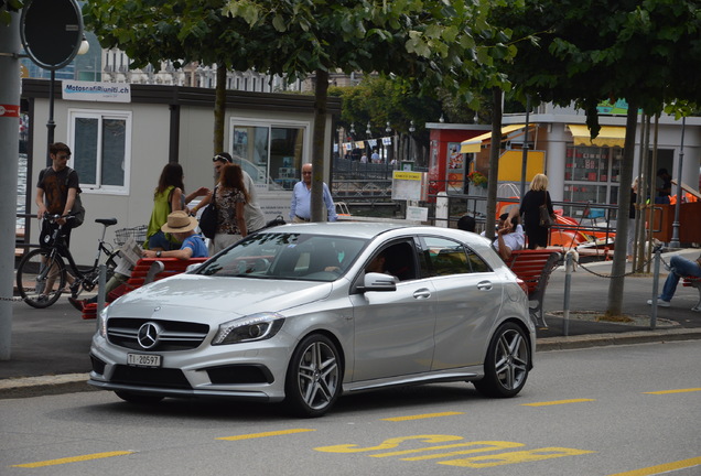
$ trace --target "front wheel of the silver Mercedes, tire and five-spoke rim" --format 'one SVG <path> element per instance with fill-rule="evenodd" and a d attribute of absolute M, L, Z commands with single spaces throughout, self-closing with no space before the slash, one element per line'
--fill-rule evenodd
<path fill-rule="evenodd" d="M 305 337 L 290 359 L 285 403 L 299 416 L 322 416 L 341 394 L 342 375 L 335 344 L 321 334 Z"/>

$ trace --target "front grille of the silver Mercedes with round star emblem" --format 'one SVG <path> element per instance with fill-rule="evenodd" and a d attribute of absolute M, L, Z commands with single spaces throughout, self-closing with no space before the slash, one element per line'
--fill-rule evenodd
<path fill-rule="evenodd" d="M 197 348 L 207 336 L 209 326 L 177 321 L 112 317 L 107 322 L 110 344 L 132 350 L 144 350 L 139 344 L 139 329 L 145 323 L 158 325 L 158 342 L 149 351 L 174 351 Z"/>

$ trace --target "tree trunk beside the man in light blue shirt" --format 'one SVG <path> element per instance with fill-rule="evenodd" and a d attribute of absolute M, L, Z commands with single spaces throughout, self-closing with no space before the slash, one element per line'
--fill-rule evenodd
<path fill-rule="evenodd" d="M 312 137 L 312 221 L 326 221 L 327 213 L 324 206 L 324 156 L 326 150 L 326 102 L 328 98 L 328 73 L 316 71 L 316 86 L 314 87 L 314 132 Z"/>

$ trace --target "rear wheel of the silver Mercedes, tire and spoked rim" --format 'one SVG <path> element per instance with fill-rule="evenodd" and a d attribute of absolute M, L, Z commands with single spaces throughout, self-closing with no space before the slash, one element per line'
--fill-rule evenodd
<path fill-rule="evenodd" d="M 475 381 L 474 386 L 487 397 L 514 397 L 526 385 L 530 367 L 527 334 L 518 325 L 505 323 L 492 337 L 484 364 L 484 378 Z"/>

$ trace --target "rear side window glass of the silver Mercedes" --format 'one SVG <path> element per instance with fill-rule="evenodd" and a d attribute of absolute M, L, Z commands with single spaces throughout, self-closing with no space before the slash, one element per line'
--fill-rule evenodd
<path fill-rule="evenodd" d="M 487 263 L 461 242 L 438 237 L 423 237 L 422 241 L 430 277 L 489 271 Z"/>

